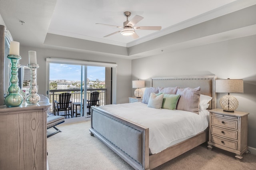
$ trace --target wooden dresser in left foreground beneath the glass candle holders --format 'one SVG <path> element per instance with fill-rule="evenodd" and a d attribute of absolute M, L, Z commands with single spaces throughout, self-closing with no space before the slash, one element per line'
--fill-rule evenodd
<path fill-rule="evenodd" d="M 46 170 L 47 97 L 37 105 L 0 106 L 0 170 Z"/>

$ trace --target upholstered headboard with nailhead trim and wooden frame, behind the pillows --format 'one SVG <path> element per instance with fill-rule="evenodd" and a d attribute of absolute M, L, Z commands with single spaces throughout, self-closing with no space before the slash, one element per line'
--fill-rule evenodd
<path fill-rule="evenodd" d="M 201 87 L 201 94 L 212 97 L 208 109 L 216 108 L 215 75 L 182 76 L 182 77 L 152 77 L 151 87 Z"/>

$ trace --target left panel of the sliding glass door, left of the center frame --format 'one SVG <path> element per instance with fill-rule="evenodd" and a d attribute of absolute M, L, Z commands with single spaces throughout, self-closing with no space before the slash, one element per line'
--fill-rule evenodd
<path fill-rule="evenodd" d="M 56 112 L 59 94 L 70 93 L 70 107 L 72 110 L 68 111 L 70 113 L 63 113 L 62 111 L 60 115 L 65 115 L 66 118 L 83 115 L 81 106 L 83 106 L 84 85 L 86 85 L 86 81 L 84 81 L 85 67 L 83 65 L 49 63 L 48 97 L 52 104 L 50 111 L 52 114 Z"/>

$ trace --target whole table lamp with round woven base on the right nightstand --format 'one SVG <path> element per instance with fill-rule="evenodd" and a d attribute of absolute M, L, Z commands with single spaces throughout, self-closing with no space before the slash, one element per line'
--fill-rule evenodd
<path fill-rule="evenodd" d="M 244 93 L 244 81 L 242 79 L 216 80 L 216 93 L 228 93 L 220 98 L 220 106 L 225 112 L 234 112 L 238 107 L 238 100 L 229 93 Z"/>

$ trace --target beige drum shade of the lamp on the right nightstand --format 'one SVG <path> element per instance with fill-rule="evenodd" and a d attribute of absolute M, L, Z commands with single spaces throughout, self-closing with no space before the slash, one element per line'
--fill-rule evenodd
<path fill-rule="evenodd" d="M 244 93 L 244 81 L 242 79 L 216 80 L 216 93 Z"/>

